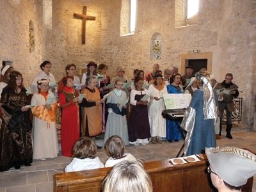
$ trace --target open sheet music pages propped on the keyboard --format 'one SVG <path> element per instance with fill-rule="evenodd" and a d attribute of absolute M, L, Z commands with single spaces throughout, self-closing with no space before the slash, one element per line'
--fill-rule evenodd
<path fill-rule="evenodd" d="M 184 109 L 189 106 L 191 101 L 190 93 L 166 93 L 163 95 L 166 109 Z"/>

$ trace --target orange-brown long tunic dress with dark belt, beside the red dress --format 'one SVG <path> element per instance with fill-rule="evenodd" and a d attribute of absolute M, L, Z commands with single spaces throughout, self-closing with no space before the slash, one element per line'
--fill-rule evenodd
<path fill-rule="evenodd" d="M 96 101 L 100 101 L 100 92 L 97 88 L 91 90 L 86 87 L 81 93 L 86 94 L 80 104 L 83 107 L 82 136 L 97 136 L 102 131 L 102 109 L 101 105 L 96 105 Z"/>

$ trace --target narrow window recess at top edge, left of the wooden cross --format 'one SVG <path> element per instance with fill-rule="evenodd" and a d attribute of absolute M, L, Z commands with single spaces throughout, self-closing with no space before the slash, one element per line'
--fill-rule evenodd
<path fill-rule="evenodd" d="M 52 29 L 52 0 L 43 1 L 43 24 Z"/>

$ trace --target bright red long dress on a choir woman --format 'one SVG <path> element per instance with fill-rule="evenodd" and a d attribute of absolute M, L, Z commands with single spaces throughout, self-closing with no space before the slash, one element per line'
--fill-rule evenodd
<path fill-rule="evenodd" d="M 60 93 L 60 106 L 78 97 L 78 91 L 65 86 Z M 77 103 L 71 104 L 62 109 L 61 115 L 61 154 L 72 156 L 72 147 L 80 137 L 79 106 Z"/>

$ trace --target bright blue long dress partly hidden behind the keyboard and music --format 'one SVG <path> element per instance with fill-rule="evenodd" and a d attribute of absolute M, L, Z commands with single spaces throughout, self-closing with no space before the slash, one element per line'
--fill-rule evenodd
<path fill-rule="evenodd" d="M 168 93 L 182 93 L 182 88 L 175 87 L 172 84 L 167 86 Z M 180 122 L 177 122 L 180 125 Z M 166 140 L 181 140 L 181 134 L 175 121 L 166 120 Z"/>

